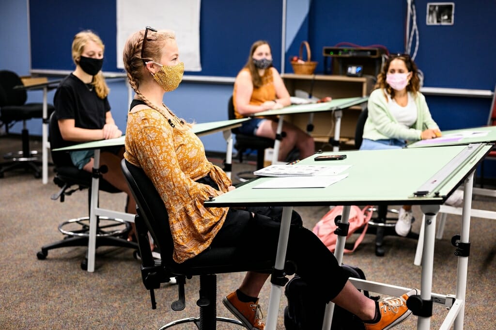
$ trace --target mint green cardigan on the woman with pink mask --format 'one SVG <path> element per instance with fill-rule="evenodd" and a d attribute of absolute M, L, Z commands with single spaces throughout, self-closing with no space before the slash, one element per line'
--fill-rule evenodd
<path fill-rule="evenodd" d="M 397 138 L 415 141 L 421 139 L 420 134 L 422 131 L 439 129 L 429 112 L 426 98 L 422 93 L 417 92 L 417 95 L 413 96 L 417 105 L 417 121 L 409 129 L 398 124 L 392 116 L 384 93 L 385 90 L 383 89 L 375 89 L 369 97 L 369 116 L 364 126 L 364 138 L 371 140 Z"/>

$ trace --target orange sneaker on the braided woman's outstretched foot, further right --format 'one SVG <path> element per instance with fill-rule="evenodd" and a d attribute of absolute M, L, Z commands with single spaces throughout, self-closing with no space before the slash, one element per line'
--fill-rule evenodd
<path fill-rule="evenodd" d="M 388 330 L 412 314 L 406 307 L 406 301 L 411 295 L 416 295 L 417 290 L 413 289 L 399 298 L 388 297 L 379 302 L 380 321 L 377 323 L 364 323 L 366 330 Z"/>

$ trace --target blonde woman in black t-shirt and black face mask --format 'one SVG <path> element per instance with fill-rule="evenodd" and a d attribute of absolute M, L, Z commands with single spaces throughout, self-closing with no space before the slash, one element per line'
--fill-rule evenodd
<path fill-rule="evenodd" d="M 54 96 L 55 115 L 66 141 L 94 141 L 122 135 L 110 112 L 109 87 L 101 71 L 104 48 L 102 40 L 92 31 L 81 31 L 74 36 L 72 60 L 76 68 L 62 80 Z M 92 172 L 93 150 L 69 154 L 74 166 Z M 135 213 L 136 203 L 120 167 L 123 157 L 124 148 L 102 150 L 100 165 L 108 168 L 102 177 L 127 194 L 126 212 Z"/>

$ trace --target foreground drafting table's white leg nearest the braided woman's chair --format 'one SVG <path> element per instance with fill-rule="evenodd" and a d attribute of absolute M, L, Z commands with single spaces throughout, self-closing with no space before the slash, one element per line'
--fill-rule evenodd
<path fill-rule="evenodd" d="M 275 270 L 284 269 L 292 212 L 293 206 L 285 206 L 283 208 L 281 229 L 279 231 L 279 240 L 277 242 Z M 271 284 L 269 308 L 267 311 L 267 323 L 265 324 L 266 330 L 276 330 L 277 315 L 279 314 L 279 303 L 281 301 L 282 288 L 283 287 L 280 285 L 274 283 Z"/>

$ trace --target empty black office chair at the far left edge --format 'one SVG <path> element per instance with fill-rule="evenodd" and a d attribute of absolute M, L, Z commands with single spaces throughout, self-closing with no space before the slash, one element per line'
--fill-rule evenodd
<path fill-rule="evenodd" d="M 38 151 L 29 148 L 29 132 L 26 121 L 32 118 L 43 118 L 43 103 L 26 103 L 27 92 L 25 89 L 14 89 L 22 86 L 21 78 L 12 71 L 0 70 L 0 122 L 5 126 L 5 132 L 16 122 L 22 122 L 22 151 L 11 152 L 4 155 L 9 159 L 0 164 L 0 178 L 4 172 L 24 168 L 34 172 L 35 178 L 41 178 Z M 48 105 L 48 115 L 54 111 L 54 106 Z"/>

